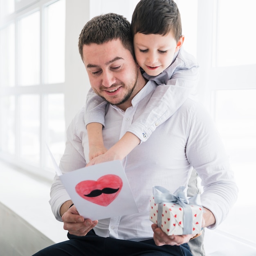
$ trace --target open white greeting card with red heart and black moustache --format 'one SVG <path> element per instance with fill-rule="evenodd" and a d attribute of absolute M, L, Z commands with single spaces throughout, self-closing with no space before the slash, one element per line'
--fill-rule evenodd
<path fill-rule="evenodd" d="M 50 150 L 49 150 L 50 151 Z M 52 157 L 52 153 L 50 152 Z M 55 162 L 54 157 L 52 157 Z M 120 161 L 84 167 L 60 175 L 77 211 L 84 218 L 100 220 L 138 212 L 124 168 Z"/>

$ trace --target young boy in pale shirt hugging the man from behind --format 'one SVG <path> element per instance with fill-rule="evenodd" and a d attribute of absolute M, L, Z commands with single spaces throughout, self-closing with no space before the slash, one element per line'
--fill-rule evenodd
<path fill-rule="evenodd" d="M 124 159 L 180 108 L 198 83 L 199 68 L 193 56 L 182 48 L 180 12 L 173 0 L 141 0 L 132 15 L 131 31 L 135 58 L 143 76 L 160 86 L 143 115 L 127 120 L 132 121 L 130 128 L 110 149 L 104 147 L 102 138 L 107 102 L 90 89 L 85 114 L 90 150 L 88 165 Z"/>

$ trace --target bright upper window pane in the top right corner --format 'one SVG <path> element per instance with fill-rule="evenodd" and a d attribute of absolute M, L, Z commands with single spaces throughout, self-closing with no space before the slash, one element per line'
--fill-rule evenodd
<path fill-rule="evenodd" d="M 255 63 L 255 9 L 252 0 L 218 1 L 217 66 Z"/>

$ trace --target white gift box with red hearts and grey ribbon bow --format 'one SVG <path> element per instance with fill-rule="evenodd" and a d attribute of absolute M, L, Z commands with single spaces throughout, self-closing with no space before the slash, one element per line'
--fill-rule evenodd
<path fill-rule="evenodd" d="M 153 187 L 149 219 L 168 236 L 201 232 L 203 209 L 199 195 L 186 197 L 185 187 L 171 194 L 161 186 Z"/>

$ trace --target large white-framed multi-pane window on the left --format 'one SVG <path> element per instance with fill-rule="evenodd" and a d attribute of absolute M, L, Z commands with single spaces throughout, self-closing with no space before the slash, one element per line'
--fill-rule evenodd
<path fill-rule="evenodd" d="M 0 6 L 0 157 L 52 177 L 45 144 L 57 162 L 65 147 L 65 0 Z"/>

